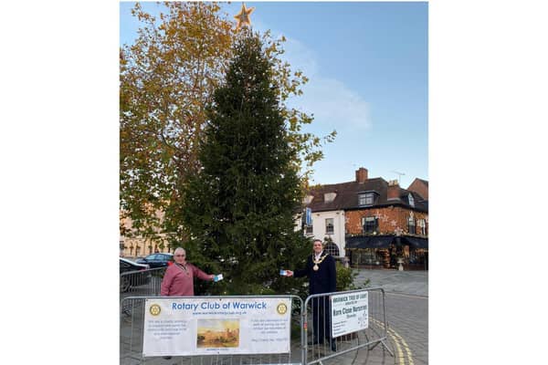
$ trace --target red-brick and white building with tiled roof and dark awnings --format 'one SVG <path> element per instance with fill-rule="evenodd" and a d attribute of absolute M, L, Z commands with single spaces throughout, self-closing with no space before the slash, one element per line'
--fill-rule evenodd
<path fill-rule="evenodd" d="M 307 234 L 328 238 L 335 245 L 330 252 L 349 257 L 352 265 L 395 267 L 402 258 L 407 268 L 427 268 L 427 181 L 416 179 L 403 189 L 396 181 L 370 179 L 364 168 L 355 176 L 311 188 Z"/>

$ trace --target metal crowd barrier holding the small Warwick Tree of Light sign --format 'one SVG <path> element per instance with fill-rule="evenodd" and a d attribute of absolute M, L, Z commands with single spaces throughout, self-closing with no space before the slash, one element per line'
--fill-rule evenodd
<path fill-rule="evenodd" d="M 346 316 L 345 310 L 352 317 L 353 305 L 349 304 L 342 310 L 331 308 L 330 297 L 342 297 L 346 302 L 353 303 L 352 297 L 363 293 L 367 293 L 368 297 L 367 308 L 363 312 L 367 315 L 367 328 L 332 338 L 333 321 L 337 325 L 337 319 L 333 318 Z M 354 308 L 364 310 L 363 306 Z M 334 316 L 335 310 L 338 310 L 339 316 Z M 385 290 L 380 287 L 312 295 L 304 302 L 302 316 L 302 363 L 305 365 L 336 360 L 336 357 L 364 347 L 371 350 L 378 344 L 382 344 L 394 357 L 386 346 Z"/>

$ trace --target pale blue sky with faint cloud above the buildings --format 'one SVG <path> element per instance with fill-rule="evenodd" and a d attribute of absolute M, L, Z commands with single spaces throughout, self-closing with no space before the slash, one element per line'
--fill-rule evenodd
<path fill-rule="evenodd" d="M 241 2 L 224 5 L 230 16 Z M 121 44 L 139 26 L 121 3 Z M 314 114 L 307 131 L 337 130 L 314 166 L 311 183 L 343 183 L 365 167 L 369 177 L 407 187 L 428 180 L 427 3 L 246 2 L 254 29 L 286 36 L 291 66 L 310 78 L 290 105 Z M 142 3 L 157 12 L 158 5 Z M 398 175 L 395 172 L 403 172 Z"/>

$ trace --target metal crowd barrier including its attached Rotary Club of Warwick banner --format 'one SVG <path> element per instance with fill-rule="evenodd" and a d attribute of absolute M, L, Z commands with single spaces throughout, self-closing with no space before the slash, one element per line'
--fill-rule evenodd
<path fill-rule="evenodd" d="M 300 362 L 287 345 L 300 335 L 297 296 L 125 297 L 121 306 L 131 308 L 121 318 L 121 364 Z"/>

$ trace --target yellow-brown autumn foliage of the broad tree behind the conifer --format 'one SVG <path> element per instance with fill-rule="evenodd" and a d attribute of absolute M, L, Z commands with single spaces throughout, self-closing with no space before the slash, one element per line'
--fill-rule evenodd
<path fill-rule="evenodd" d="M 232 16 L 216 3 L 166 2 L 158 17 L 136 3 L 133 16 L 139 36 L 120 50 L 120 202 L 121 235 L 139 235 L 154 243 L 169 235 L 187 240 L 178 211 L 184 181 L 200 171 L 198 151 L 205 141 L 206 106 L 225 80 L 232 45 L 245 32 L 236 32 Z M 308 79 L 281 59 L 285 38 L 261 36 L 270 63 L 269 83 L 278 100 L 283 130 L 290 145 L 290 164 L 302 166 L 300 187 L 311 166 L 321 160 L 320 138 L 301 127 L 311 116 L 291 109 L 286 100 L 300 95 Z M 132 227 L 123 224 L 131 218 Z"/>

